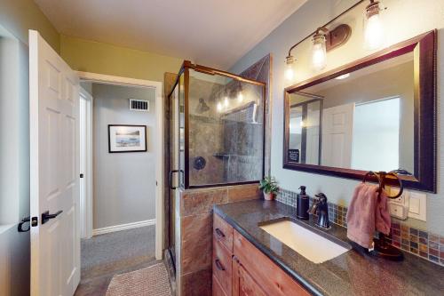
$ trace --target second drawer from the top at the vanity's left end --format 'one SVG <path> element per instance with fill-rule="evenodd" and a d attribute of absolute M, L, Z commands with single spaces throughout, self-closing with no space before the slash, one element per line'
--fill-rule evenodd
<path fill-rule="evenodd" d="M 213 276 L 216 276 L 219 284 L 225 287 L 226 296 L 231 296 L 232 283 L 232 254 L 226 250 L 226 247 L 213 240 Z M 229 290 L 229 291 L 227 291 Z"/>

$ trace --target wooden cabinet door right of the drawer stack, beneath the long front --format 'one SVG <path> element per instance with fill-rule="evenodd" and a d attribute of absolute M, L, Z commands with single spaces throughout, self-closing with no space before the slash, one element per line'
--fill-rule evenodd
<path fill-rule="evenodd" d="M 235 259 L 233 261 L 233 296 L 266 296 L 266 292 Z"/>

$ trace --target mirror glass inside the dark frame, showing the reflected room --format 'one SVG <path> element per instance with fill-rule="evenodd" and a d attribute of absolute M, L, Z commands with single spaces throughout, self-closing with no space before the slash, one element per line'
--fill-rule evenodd
<path fill-rule="evenodd" d="M 415 172 L 413 52 L 291 92 L 289 105 L 289 162 Z"/>

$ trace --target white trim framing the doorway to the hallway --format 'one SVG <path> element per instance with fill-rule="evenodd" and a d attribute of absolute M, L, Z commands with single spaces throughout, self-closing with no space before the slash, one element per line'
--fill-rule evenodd
<path fill-rule="evenodd" d="M 163 217 L 164 217 L 164 209 L 163 209 L 163 172 L 164 172 L 164 164 L 163 159 L 165 157 L 164 147 L 163 147 L 163 83 L 158 81 L 150 81 L 143 79 L 135 79 L 128 78 L 122 76 L 110 76 L 98 73 L 91 72 L 83 72 L 77 71 L 77 75 L 81 79 L 81 81 L 88 81 L 92 83 L 101 83 L 101 84 L 115 84 L 115 85 L 126 85 L 126 86 L 138 86 L 138 87 L 147 87 L 155 90 L 155 151 L 158 155 L 155 157 L 155 180 L 156 180 L 156 189 L 155 189 L 155 259 L 162 260 L 163 258 L 163 237 L 164 237 L 164 229 L 163 229 Z M 92 133 L 92 124 L 89 126 Z M 86 158 L 91 161 L 92 159 L 92 148 L 87 151 Z M 92 161 L 91 161 L 92 167 Z M 92 170 L 91 170 L 92 172 Z M 91 192 L 92 192 L 93 184 L 91 182 Z M 87 189 L 88 191 L 88 189 Z M 88 198 L 91 199 L 92 204 L 92 195 Z M 88 203 L 88 202 L 87 202 Z M 91 211 L 92 217 L 92 211 Z M 92 233 L 92 223 L 91 223 L 91 233 Z"/>

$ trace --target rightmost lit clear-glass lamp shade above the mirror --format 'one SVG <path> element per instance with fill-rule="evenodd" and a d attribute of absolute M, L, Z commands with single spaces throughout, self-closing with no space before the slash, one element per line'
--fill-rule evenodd
<path fill-rule="evenodd" d="M 379 1 L 375 0 L 370 0 L 370 4 L 365 8 L 364 37 L 365 46 L 369 50 L 378 49 L 384 44 L 385 31 L 381 20 L 381 12 L 385 9 Z"/>

